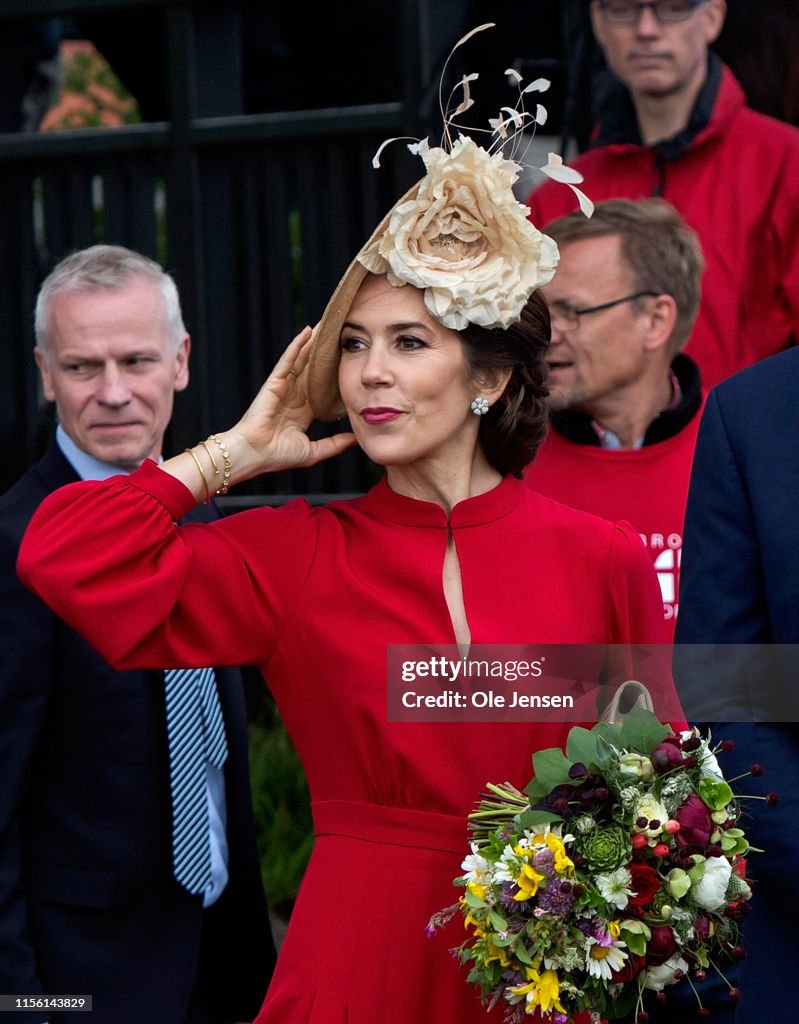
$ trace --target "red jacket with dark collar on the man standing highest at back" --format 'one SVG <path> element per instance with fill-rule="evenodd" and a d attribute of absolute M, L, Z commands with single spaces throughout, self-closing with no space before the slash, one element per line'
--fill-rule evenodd
<path fill-rule="evenodd" d="M 609 104 L 596 140 L 573 166 L 594 201 L 663 196 L 698 232 L 706 269 L 686 351 L 707 386 L 799 337 L 799 129 L 750 110 L 717 58 L 688 127 L 641 144 L 629 93 Z M 547 181 L 528 198 L 545 228 L 577 209 Z"/>

